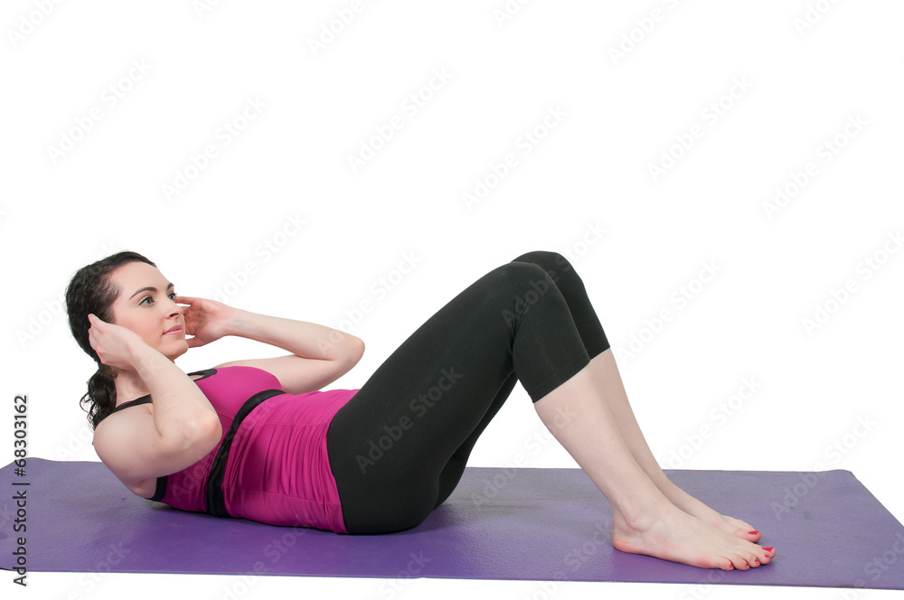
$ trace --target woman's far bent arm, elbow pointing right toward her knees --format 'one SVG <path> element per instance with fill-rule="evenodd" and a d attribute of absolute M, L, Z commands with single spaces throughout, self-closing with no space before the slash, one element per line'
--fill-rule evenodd
<path fill-rule="evenodd" d="M 325 325 L 251 313 L 203 298 L 177 296 L 175 300 L 190 305 L 185 309 L 185 326 L 194 336 L 189 340 L 192 347 L 224 335 L 237 335 L 292 352 L 289 356 L 219 365 L 266 370 L 289 393 L 323 388 L 351 370 L 364 352 L 360 338 Z"/>

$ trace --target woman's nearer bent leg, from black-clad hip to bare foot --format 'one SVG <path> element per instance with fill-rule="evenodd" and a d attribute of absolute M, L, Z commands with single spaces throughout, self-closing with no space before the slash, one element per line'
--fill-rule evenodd
<path fill-rule="evenodd" d="M 677 509 L 640 468 L 585 368 L 589 357 L 576 319 L 553 283 L 536 265 L 494 269 L 431 317 L 336 415 L 327 441 L 346 527 L 400 530 L 426 517 L 439 497 L 438 473 L 447 472 L 453 455 L 485 426 L 489 408 L 501 403 L 497 392 L 513 385 L 515 371 L 544 423 L 610 499 L 617 548 L 702 567 L 767 562 L 763 548 Z M 439 359 L 458 364 L 459 372 L 456 377 L 453 366 L 445 385 L 430 386 L 437 371 L 429 365 L 438 369 Z M 421 361 L 432 375 L 425 376 Z M 419 380 L 413 387 L 400 377 L 410 367 L 419 373 L 410 378 Z M 461 385 L 465 381 L 471 385 Z M 573 414 L 580 417 L 562 423 L 563 415 Z"/>

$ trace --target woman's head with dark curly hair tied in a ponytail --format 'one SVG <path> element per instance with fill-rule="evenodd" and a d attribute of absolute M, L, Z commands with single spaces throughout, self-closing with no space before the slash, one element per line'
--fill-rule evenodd
<path fill-rule="evenodd" d="M 98 372 L 88 381 L 88 393 L 81 398 L 93 406 L 89 421 L 96 427 L 116 408 L 117 371 L 101 363 L 91 348 L 89 314 L 101 321 L 116 323 L 138 333 L 153 348 L 170 359 L 188 350 L 184 339 L 184 315 L 173 301 L 172 284 L 156 265 L 137 252 L 118 252 L 81 267 L 66 289 L 69 326 L 76 342 L 94 361 Z M 181 335 L 165 335 L 174 325 Z"/>

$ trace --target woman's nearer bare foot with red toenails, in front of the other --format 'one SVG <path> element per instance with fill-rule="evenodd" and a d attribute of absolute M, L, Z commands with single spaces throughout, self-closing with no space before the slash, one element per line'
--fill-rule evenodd
<path fill-rule="evenodd" d="M 662 502 L 659 511 L 628 520 L 612 516 L 612 544 L 622 552 L 664 558 L 692 567 L 747 570 L 767 564 L 774 548 L 762 548 Z"/>

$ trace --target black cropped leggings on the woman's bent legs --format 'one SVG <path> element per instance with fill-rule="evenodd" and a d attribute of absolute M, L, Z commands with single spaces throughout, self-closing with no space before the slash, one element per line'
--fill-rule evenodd
<path fill-rule="evenodd" d="M 345 529 L 418 525 L 455 489 L 516 381 L 536 402 L 608 347 L 560 254 L 529 252 L 477 279 L 336 413 L 326 445 Z"/>

